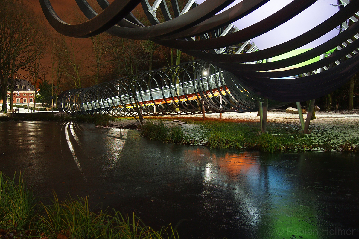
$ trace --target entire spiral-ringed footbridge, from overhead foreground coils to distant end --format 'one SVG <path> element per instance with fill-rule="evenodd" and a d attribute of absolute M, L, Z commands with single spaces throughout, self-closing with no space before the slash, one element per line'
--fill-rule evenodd
<path fill-rule="evenodd" d="M 77 25 L 39 1 L 66 36 L 150 39 L 202 59 L 63 92 L 57 106 L 73 114 L 257 111 L 322 97 L 359 70 L 358 0 L 97 0 L 101 13 L 76 0 L 89 19 Z M 139 4 L 151 25 L 131 13 Z"/>

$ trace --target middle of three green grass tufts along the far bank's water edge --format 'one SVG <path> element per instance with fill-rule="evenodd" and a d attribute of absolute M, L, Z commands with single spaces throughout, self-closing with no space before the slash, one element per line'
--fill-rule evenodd
<path fill-rule="evenodd" d="M 207 145 L 212 148 L 220 149 L 243 149 L 244 145 L 244 136 L 238 134 L 233 136 L 229 133 L 219 132 L 218 130 L 213 130 L 211 132 Z"/>

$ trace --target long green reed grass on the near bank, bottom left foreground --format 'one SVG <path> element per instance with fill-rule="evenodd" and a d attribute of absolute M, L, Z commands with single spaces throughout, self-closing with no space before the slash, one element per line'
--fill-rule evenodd
<path fill-rule="evenodd" d="M 21 174 L 17 178 L 15 180 L 14 176 L 11 180 L 0 171 L 0 229 L 23 231 L 29 238 L 178 238 L 171 224 L 156 231 L 145 226 L 134 214 L 123 217 L 115 210 L 94 212 L 87 197 L 73 199 L 68 196 L 60 202 L 54 192 L 51 203 L 45 205 L 33 195 L 31 187 L 25 186 Z"/>

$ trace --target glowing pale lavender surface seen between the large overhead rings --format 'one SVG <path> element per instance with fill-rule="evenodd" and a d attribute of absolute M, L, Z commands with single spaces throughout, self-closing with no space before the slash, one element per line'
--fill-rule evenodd
<path fill-rule="evenodd" d="M 205 0 L 197 0 L 199 4 L 203 3 L 204 1 Z M 226 9 L 230 8 L 235 4 L 240 3 L 241 1 L 242 0 L 235 1 Z M 263 6 L 261 6 L 260 8 L 258 8 L 257 10 L 253 11 L 253 13 L 248 14 L 247 16 L 245 16 L 242 19 L 239 19 L 233 24 L 239 29 L 249 27 L 250 25 L 257 23 L 258 21 L 267 18 L 268 16 L 280 10 L 290 2 L 292 1 L 271 0 L 268 3 L 264 4 Z M 339 11 L 339 8 L 337 6 L 332 6 L 330 4 L 337 5 L 337 1 L 318 0 L 308 9 L 304 10 L 302 13 L 290 19 L 286 23 L 252 40 L 257 45 L 257 47 L 262 50 L 272 46 L 276 46 L 290 39 L 293 39 L 298 35 L 307 32 L 313 27 L 316 27 L 318 24 L 322 23 L 330 16 L 337 13 L 337 11 Z M 323 37 L 314 40 L 313 42 L 307 44 L 306 46 L 301 47 L 300 49 L 308 49 L 308 48 L 314 48 L 316 46 L 319 46 L 320 44 L 333 38 L 338 33 L 339 30 L 334 29 L 331 32 L 324 35 Z"/>

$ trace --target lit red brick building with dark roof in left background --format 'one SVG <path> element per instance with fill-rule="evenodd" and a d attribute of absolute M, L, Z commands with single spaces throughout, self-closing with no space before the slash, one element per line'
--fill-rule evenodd
<path fill-rule="evenodd" d="M 10 104 L 10 85 L 8 86 L 8 99 L 7 103 Z M 26 80 L 14 80 L 14 97 L 13 103 L 14 104 L 33 104 L 35 98 L 35 89 Z M 1 100 L 0 103 L 2 104 L 3 101 Z"/>

